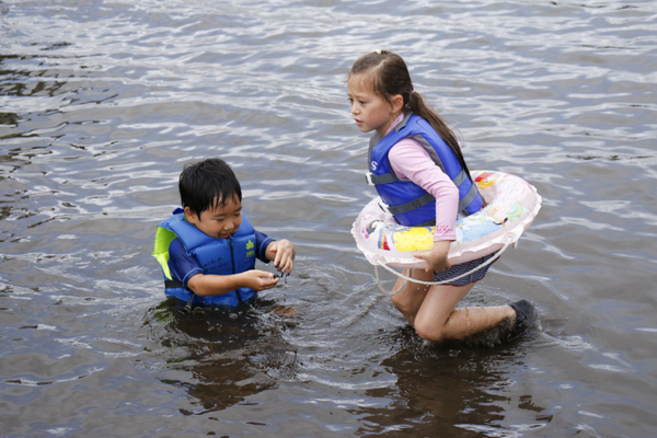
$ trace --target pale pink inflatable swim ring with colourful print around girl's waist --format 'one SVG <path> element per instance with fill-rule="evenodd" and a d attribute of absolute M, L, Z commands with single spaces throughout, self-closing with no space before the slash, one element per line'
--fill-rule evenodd
<path fill-rule="evenodd" d="M 504 172 L 473 171 L 471 175 L 486 201 L 474 215 L 457 220 L 457 240 L 448 260 L 452 265 L 492 254 L 516 243 L 541 209 L 541 197 L 525 180 Z M 372 199 L 351 228 L 358 249 L 374 266 L 424 268 L 418 251 L 434 245 L 434 227 L 403 227 Z"/>

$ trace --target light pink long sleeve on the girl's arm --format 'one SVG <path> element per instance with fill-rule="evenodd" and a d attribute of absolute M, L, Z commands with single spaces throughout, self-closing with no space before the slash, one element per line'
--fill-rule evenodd
<path fill-rule="evenodd" d="M 394 173 L 408 178 L 436 197 L 434 241 L 454 241 L 459 208 L 459 189 L 431 161 L 428 152 L 414 139 L 404 138 L 390 150 L 388 158 Z"/>

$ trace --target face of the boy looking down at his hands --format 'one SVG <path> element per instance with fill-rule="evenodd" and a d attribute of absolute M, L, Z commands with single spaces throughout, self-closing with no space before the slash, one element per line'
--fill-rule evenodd
<path fill-rule="evenodd" d="M 227 199 L 223 206 L 210 207 L 200 217 L 185 207 L 185 217 L 210 238 L 228 239 L 242 224 L 242 203 L 238 198 Z"/>

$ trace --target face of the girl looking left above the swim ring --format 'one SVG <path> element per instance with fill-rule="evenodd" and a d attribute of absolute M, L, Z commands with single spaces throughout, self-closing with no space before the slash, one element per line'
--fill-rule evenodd
<path fill-rule="evenodd" d="M 401 114 L 403 100 L 402 105 L 395 105 L 394 97 L 393 103 L 384 101 L 367 87 L 368 81 L 365 79 L 362 74 L 355 74 L 347 82 L 351 114 L 361 132 L 376 130 L 383 137 L 392 122 Z M 399 97 L 402 96 L 399 95 Z"/>

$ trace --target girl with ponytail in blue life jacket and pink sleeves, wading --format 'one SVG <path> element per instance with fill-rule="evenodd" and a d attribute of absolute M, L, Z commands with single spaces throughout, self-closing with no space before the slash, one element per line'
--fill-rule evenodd
<path fill-rule="evenodd" d="M 450 242 L 456 240 L 457 216 L 479 211 L 483 199 L 459 142 L 415 92 L 404 60 L 385 50 L 367 54 L 351 67 L 347 84 L 358 129 L 376 132 L 370 140 L 368 181 L 401 224 L 436 226 L 433 249 L 415 254 L 426 261 L 426 270 L 407 269 L 404 274 L 422 281 L 445 281 L 494 256 L 454 266 L 447 260 Z M 509 327 L 503 338 L 515 338 L 535 320 L 530 302 L 456 309 L 487 268 L 442 285 L 408 283 L 392 302 L 425 339 L 462 341 L 498 325 Z M 503 321 L 507 323 L 500 325 Z"/>

